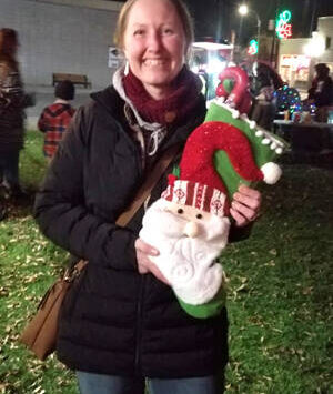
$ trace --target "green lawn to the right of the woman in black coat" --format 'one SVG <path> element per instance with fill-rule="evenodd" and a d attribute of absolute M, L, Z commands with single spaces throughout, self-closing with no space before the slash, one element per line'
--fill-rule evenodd
<path fill-rule="evenodd" d="M 230 273 L 228 393 L 333 393 L 333 173 L 285 166 Z"/>

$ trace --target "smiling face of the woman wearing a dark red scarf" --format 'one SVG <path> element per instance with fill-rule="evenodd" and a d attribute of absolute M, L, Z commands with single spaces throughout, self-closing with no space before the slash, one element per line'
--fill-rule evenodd
<path fill-rule="evenodd" d="M 184 63 L 185 36 L 168 0 L 138 0 L 129 12 L 124 53 L 133 74 L 154 99 L 168 94 Z"/>

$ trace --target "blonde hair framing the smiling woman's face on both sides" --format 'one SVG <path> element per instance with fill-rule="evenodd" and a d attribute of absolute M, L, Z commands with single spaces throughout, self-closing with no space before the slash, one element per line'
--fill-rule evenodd
<path fill-rule="evenodd" d="M 128 20 L 129 20 L 129 14 L 130 11 L 133 7 L 133 4 L 138 0 L 128 0 L 123 7 L 120 10 L 118 21 L 117 21 L 117 27 L 115 27 L 115 33 L 114 33 L 114 43 L 119 49 L 123 49 L 124 47 L 124 33 L 128 27 Z M 175 8 L 175 11 L 178 16 L 180 17 L 184 34 L 185 34 L 185 41 L 186 41 L 186 54 L 189 54 L 189 50 L 191 48 L 191 44 L 194 40 L 194 31 L 193 31 L 193 21 L 190 16 L 190 12 L 186 8 L 186 6 L 182 2 L 182 0 L 168 0 L 173 7 Z"/>

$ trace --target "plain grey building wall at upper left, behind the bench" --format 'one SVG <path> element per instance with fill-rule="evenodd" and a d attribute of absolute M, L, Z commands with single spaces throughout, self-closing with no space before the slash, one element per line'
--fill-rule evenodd
<path fill-rule="evenodd" d="M 0 0 L 0 27 L 19 32 L 24 82 L 51 85 L 52 73 L 59 72 L 84 74 L 92 89 L 108 85 L 117 67 L 110 61 L 109 48 L 122 4 L 107 0 Z"/>

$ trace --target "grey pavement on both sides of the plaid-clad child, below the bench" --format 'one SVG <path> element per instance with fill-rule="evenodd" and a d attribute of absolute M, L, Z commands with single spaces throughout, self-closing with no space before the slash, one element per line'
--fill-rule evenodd
<path fill-rule="evenodd" d="M 27 93 L 36 94 L 36 105 L 30 107 L 26 110 L 27 129 L 37 129 L 38 118 L 41 114 L 42 110 L 56 100 L 54 88 L 26 84 L 24 89 Z M 87 103 L 90 100 L 90 93 L 101 89 L 102 88 L 85 89 L 75 85 L 75 99 L 71 102 L 71 104 L 78 109 L 80 105 Z"/>

